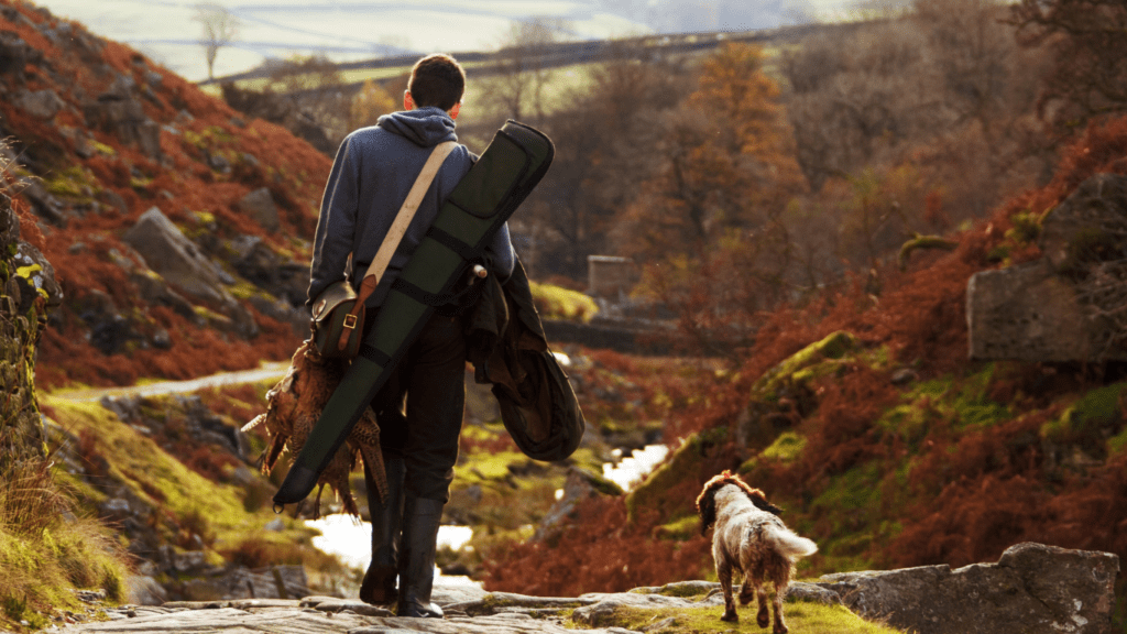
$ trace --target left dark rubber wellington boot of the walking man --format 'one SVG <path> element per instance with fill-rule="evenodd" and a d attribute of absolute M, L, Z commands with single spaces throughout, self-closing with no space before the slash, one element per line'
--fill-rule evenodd
<path fill-rule="evenodd" d="M 367 484 L 367 510 L 372 519 L 372 562 L 360 587 L 360 600 L 365 604 L 391 604 L 399 597 L 396 578 L 399 575 L 400 521 L 403 516 L 403 459 L 383 456 L 388 475 L 388 499 L 380 493 L 364 465 Z"/>

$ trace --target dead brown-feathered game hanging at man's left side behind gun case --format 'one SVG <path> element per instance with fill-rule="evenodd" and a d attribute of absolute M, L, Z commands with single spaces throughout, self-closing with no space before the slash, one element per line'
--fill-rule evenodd
<path fill-rule="evenodd" d="M 321 358 L 308 340 L 298 347 L 285 377 L 266 393 L 266 412 L 242 426 L 246 432 L 266 425 L 269 440 L 260 458 L 264 474 L 270 473 L 283 450 L 290 451 L 291 459 L 301 451 L 321 417 L 321 410 L 344 377 L 345 368 L 343 361 Z M 371 407 L 364 411 L 345 444 L 318 477 L 314 518 L 320 517 L 321 492 L 326 484 L 336 492 L 346 513 L 360 517 L 348 484 L 348 474 L 356 466 L 357 456 L 372 470 L 380 497 L 385 497 L 388 479 L 380 450 L 380 428 Z"/>

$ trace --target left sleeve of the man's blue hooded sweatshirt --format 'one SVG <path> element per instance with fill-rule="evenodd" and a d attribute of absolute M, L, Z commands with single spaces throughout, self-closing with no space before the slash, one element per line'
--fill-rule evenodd
<path fill-rule="evenodd" d="M 325 185 L 309 267 L 307 307 L 312 307 L 313 298 L 329 284 L 345 279 L 348 255 L 353 250 L 360 192 L 360 165 L 355 153 L 353 139 L 345 139 Z"/>

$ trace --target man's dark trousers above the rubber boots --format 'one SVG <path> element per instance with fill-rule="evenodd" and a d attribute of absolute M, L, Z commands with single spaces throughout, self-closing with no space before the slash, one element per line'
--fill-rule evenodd
<path fill-rule="evenodd" d="M 434 315 L 372 399 L 384 456 L 403 460 L 408 496 L 450 500 L 464 405 L 462 319 Z"/>

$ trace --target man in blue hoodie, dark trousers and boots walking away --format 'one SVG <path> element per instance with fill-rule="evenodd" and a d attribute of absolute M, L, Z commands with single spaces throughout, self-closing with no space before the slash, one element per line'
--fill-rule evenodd
<path fill-rule="evenodd" d="M 453 58 L 423 58 L 411 70 L 403 111 L 380 117 L 375 125 L 356 130 L 341 142 L 321 200 L 308 305 L 343 275 L 358 284 L 431 150 L 458 140 L 454 120 L 464 90 L 465 73 Z M 442 203 L 474 160 L 461 144 L 445 159 L 367 299 L 369 315 L 379 309 Z M 486 256 L 490 274 L 500 281 L 512 274 L 515 256 L 507 224 L 487 247 Z M 369 326 L 373 322 L 366 319 Z M 365 464 L 372 562 L 360 598 L 370 604 L 396 601 L 399 616 L 442 617 L 442 609 L 431 602 L 431 591 L 442 509 L 450 500 L 458 459 L 464 376 L 462 316 L 456 307 L 438 307 L 372 400 L 390 493 L 380 500 Z"/>

